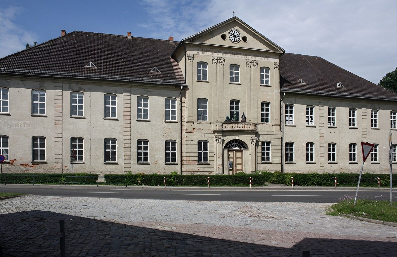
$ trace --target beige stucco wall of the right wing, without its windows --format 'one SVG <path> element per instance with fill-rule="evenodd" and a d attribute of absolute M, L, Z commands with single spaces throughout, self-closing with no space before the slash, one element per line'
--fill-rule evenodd
<path fill-rule="evenodd" d="M 370 99 L 343 99 L 286 93 L 285 104 L 294 105 L 294 125 L 284 126 L 285 142 L 295 143 L 295 163 L 286 163 L 285 172 L 360 172 L 362 164 L 361 142 L 379 144 L 378 163 L 368 157 L 364 172 L 388 173 L 390 111 L 397 109 L 396 102 Z M 314 126 L 306 126 L 306 105 L 314 106 Z M 336 108 L 336 127 L 328 127 L 328 107 Z M 357 128 L 349 128 L 349 108 L 357 109 Z M 379 110 L 379 128 L 371 128 L 371 110 Z M 285 124 L 285 120 L 283 121 Z M 397 131 L 395 131 L 397 132 Z M 306 164 L 306 143 L 314 143 L 314 162 Z M 328 143 L 336 143 L 337 163 L 328 163 Z M 357 144 L 357 163 L 349 163 L 349 144 Z"/>

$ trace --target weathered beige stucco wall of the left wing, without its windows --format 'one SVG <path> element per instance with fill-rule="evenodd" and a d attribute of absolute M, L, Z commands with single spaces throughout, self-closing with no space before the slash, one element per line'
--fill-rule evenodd
<path fill-rule="evenodd" d="M 180 169 L 179 89 L 166 85 L 136 85 L 2 77 L 9 88 L 10 115 L 0 115 L 0 134 L 8 135 L 10 163 L 5 172 L 71 172 L 70 138 L 84 138 L 84 161 L 73 172 L 99 174 L 145 172 L 170 173 Z M 31 115 L 31 90 L 46 90 L 47 117 Z M 71 118 L 70 93 L 84 93 L 84 117 Z M 104 119 L 104 94 L 117 96 L 117 119 Z M 149 121 L 137 121 L 137 97 L 149 97 Z M 177 99 L 177 122 L 165 122 L 165 99 Z M 46 137 L 46 162 L 32 163 L 31 137 Z M 104 139 L 117 139 L 117 164 L 104 163 Z M 137 164 L 137 140 L 149 140 L 150 164 Z M 178 164 L 165 164 L 165 141 L 176 140 Z"/>

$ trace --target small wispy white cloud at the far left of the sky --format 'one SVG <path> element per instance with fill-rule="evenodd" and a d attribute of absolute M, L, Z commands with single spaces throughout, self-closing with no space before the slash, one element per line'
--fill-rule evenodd
<path fill-rule="evenodd" d="M 17 14 L 21 8 L 10 6 L 0 9 L 0 57 L 25 49 L 26 43 L 33 43 L 34 34 L 24 31 L 15 25 Z"/>

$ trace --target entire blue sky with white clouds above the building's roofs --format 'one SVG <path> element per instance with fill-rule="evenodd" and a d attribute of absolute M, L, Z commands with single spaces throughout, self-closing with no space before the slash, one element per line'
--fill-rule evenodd
<path fill-rule="evenodd" d="M 0 57 L 61 29 L 180 40 L 234 11 L 287 52 L 321 56 L 378 83 L 397 67 L 395 10 L 394 0 L 2 0 Z"/>

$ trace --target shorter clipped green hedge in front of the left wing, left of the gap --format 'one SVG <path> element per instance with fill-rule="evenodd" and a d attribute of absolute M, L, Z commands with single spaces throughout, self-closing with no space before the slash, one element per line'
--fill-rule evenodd
<path fill-rule="evenodd" d="M 90 176 L 94 178 L 79 178 Z M 23 173 L 0 174 L 0 184 L 93 184 L 96 183 L 98 174 L 91 173 Z"/>

